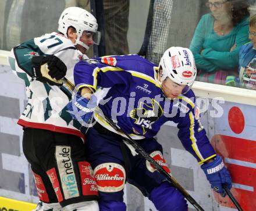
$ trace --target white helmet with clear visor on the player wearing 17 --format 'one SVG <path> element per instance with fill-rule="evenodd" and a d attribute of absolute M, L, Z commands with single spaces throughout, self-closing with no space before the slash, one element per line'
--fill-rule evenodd
<path fill-rule="evenodd" d="M 88 31 L 88 33 L 93 33 L 94 44 L 98 45 L 101 34 L 98 29 L 98 23 L 95 17 L 85 9 L 72 6 L 63 10 L 61 17 L 59 17 L 59 27 L 58 30 L 67 36 L 67 29 L 72 26 L 76 29 L 77 39 L 76 44 L 89 49 L 88 45 L 80 41 L 80 37 L 83 31 Z"/>

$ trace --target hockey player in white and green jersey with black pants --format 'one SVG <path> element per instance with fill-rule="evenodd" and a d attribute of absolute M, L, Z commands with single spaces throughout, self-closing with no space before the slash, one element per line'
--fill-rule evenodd
<path fill-rule="evenodd" d="M 59 33 L 23 42 L 9 57 L 29 98 L 18 124 L 23 126 L 23 152 L 34 173 L 40 210 L 99 209 L 82 127 L 66 112 L 70 93 L 60 81 L 64 76 L 73 81 L 74 65 L 88 58 L 90 45 L 99 43 L 97 28 L 91 13 L 70 7 L 59 18 Z"/>

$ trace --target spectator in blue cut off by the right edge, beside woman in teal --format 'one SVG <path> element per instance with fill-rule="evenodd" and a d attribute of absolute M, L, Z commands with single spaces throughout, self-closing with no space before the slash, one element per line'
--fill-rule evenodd
<path fill-rule="evenodd" d="M 239 52 L 239 80 L 241 87 L 256 90 L 256 15 L 250 19 L 249 38 Z"/>

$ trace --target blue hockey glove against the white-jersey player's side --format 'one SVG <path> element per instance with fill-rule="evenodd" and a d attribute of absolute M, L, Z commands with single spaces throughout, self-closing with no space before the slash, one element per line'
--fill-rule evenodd
<path fill-rule="evenodd" d="M 81 124 L 83 122 L 89 122 L 96 106 L 97 97 L 95 95 L 91 95 L 91 99 L 89 100 L 78 93 L 71 102 L 67 103 L 67 109 L 69 110 L 70 115 Z"/>

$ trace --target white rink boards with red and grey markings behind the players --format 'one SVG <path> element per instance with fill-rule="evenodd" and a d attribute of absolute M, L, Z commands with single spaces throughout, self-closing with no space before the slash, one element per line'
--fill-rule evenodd
<path fill-rule="evenodd" d="M 4 56 L 0 56 L 0 76 L 0 196 L 36 203 L 37 191 L 33 176 L 22 152 L 23 131 L 16 124 L 27 101 L 24 84 L 11 73 Z M 208 97 L 201 100 L 201 121 L 209 139 L 232 173 L 233 194 L 244 210 L 256 210 L 256 91 L 204 83 L 195 83 L 194 90 L 198 97 Z M 223 97 L 225 103 L 221 103 L 216 97 Z M 220 108 L 215 103 L 223 110 L 220 117 L 211 117 L 213 113 L 218 116 L 216 111 Z M 204 106 L 208 109 L 205 110 Z M 163 155 L 173 176 L 202 208 L 207 211 L 234 210 L 227 198 L 214 195 L 211 191 L 200 166 L 184 151 L 178 140 L 175 124 L 168 122 L 162 126 L 158 141 L 163 145 Z M 3 206 L 9 206 L 9 210 L 16 209 L 12 207 L 13 201 L 8 205 L 8 201 L 3 202 L 1 199 L 1 211 Z M 155 211 L 152 203 L 131 185 L 125 187 L 125 202 L 130 211 Z M 190 206 L 190 210 L 193 210 L 191 208 Z"/>

